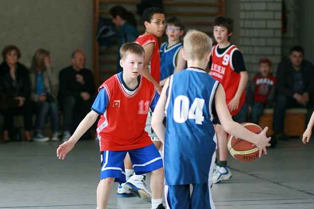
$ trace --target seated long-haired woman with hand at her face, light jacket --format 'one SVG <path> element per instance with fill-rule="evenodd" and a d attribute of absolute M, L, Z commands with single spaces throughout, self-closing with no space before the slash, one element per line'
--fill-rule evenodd
<path fill-rule="evenodd" d="M 58 141 L 59 112 L 57 107 L 57 76 L 51 67 L 49 51 L 36 50 L 30 67 L 31 100 L 36 109 L 34 141 L 46 142 L 43 127 L 47 114 L 50 113 L 52 141 Z"/>

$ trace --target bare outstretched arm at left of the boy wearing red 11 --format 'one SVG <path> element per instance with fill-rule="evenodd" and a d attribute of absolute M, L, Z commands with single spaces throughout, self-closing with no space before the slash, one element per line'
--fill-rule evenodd
<path fill-rule="evenodd" d="M 79 141 L 83 134 L 94 124 L 98 118 L 98 113 L 91 110 L 86 117 L 80 122 L 79 126 L 76 128 L 74 134 L 70 139 L 57 148 L 57 157 L 64 160 L 65 155 L 74 148 L 74 145 Z"/>

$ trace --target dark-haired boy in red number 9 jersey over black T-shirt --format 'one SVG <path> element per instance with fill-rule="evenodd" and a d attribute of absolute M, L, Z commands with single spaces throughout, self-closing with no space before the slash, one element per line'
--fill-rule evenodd
<path fill-rule="evenodd" d="M 219 81 L 226 91 L 226 103 L 231 116 L 235 116 L 245 102 L 245 87 L 248 73 L 245 69 L 243 55 L 229 42 L 232 35 L 232 19 L 217 17 L 214 21 L 214 37 L 217 45 L 212 48 L 210 75 Z M 231 178 L 227 167 L 228 147 L 227 132 L 219 124 L 215 125 L 218 140 L 219 161 L 213 175 L 213 183 Z"/>

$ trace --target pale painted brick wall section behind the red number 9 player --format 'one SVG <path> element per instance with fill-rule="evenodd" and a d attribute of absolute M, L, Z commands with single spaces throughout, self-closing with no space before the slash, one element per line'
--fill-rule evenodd
<path fill-rule="evenodd" d="M 252 77 L 261 57 L 273 62 L 273 72 L 282 59 L 282 0 L 240 1 L 239 48 Z"/>

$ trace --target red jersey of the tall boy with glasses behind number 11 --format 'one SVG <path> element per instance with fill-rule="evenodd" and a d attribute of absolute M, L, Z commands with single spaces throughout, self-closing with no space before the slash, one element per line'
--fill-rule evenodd
<path fill-rule="evenodd" d="M 160 80 L 160 57 L 159 57 L 159 45 L 157 38 L 152 34 L 143 34 L 140 35 L 136 40 L 136 43 L 141 46 L 145 46 L 149 43 L 154 43 L 154 51 L 151 55 L 149 63 L 147 64 L 148 70 L 151 76 L 159 83 Z"/>

